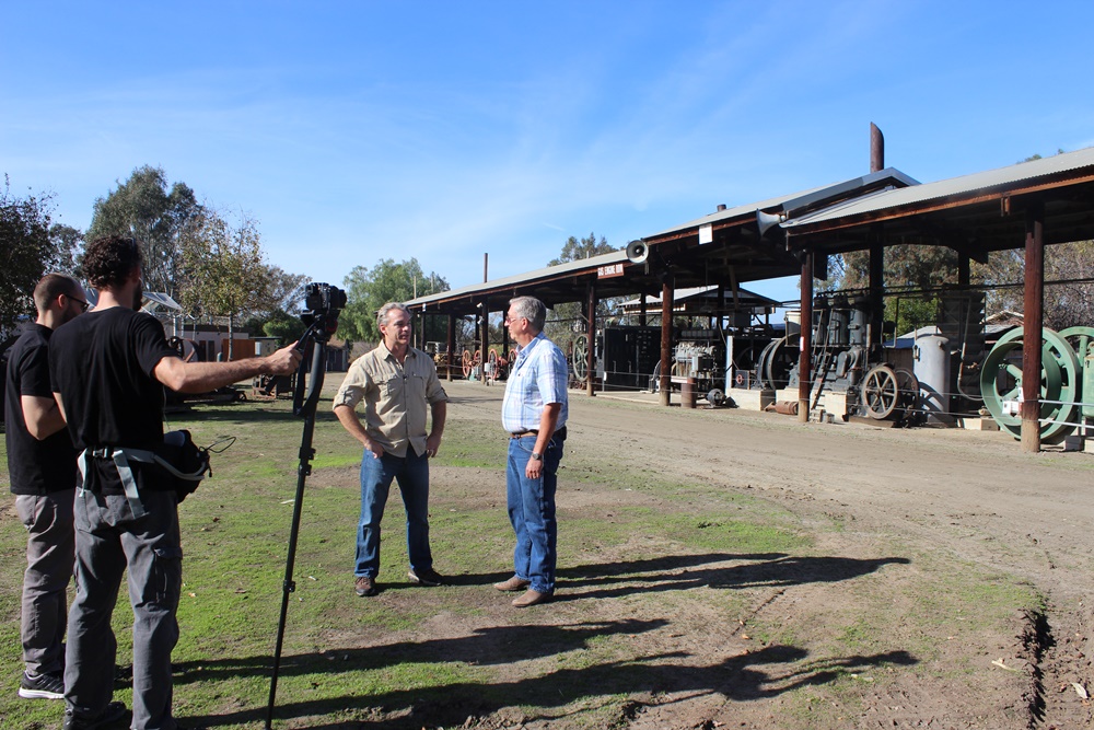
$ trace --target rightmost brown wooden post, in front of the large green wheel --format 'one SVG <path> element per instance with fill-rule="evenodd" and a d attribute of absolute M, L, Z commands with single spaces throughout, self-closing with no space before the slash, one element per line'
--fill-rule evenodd
<path fill-rule="evenodd" d="M 1022 331 L 1022 450 L 1040 451 L 1041 328 L 1045 325 L 1045 206 L 1026 209 L 1025 308 Z"/>

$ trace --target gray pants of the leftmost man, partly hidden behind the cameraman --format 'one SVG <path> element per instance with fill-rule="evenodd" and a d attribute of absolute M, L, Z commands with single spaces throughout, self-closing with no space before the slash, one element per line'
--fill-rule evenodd
<path fill-rule="evenodd" d="M 74 495 L 75 489 L 62 489 L 43 497 L 15 497 L 15 511 L 26 528 L 20 635 L 23 663 L 35 674 L 54 674 L 65 669 L 65 592 L 72 580 L 74 559 Z"/>

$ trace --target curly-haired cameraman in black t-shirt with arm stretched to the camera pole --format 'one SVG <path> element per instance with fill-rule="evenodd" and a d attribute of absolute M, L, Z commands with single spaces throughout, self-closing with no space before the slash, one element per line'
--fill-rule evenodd
<path fill-rule="evenodd" d="M 83 259 L 98 290 L 95 310 L 50 340 L 54 396 L 85 470 L 74 505 L 77 594 L 69 613 L 65 730 L 121 719 L 112 703 L 117 642 L 110 617 L 123 571 L 133 611 L 132 730 L 173 730 L 171 652 L 182 589 L 177 497 L 118 449 L 153 451 L 163 442 L 164 386 L 205 393 L 258 374 L 296 369 L 295 343 L 266 358 L 184 362 L 158 320 L 139 312 L 140 246 L 132 239 L 92 241 Z M 97 452 L 97 455 L 92 452 Z M 123 473 L 131 472 L 132 478 Z M 132 485 L 127 493 L 125 483 Z"/>

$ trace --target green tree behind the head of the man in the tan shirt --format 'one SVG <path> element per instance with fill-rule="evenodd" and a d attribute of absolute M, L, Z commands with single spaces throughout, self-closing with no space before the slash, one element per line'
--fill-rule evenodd
<path fill-rule="evenodd" d="M 449 290 L 449 282 L 435 273 L 421 270 L 417 258 L 395 263 L 384 258 L 371 269 L 354 266 L 342 281 L 346 287 L 346 309 L 338 317 L 338 337 L 347 341 L 379 343 L 376 312 L 387 302 L 407 302 Z M 443 340 L 444 325 L 426 317 L 426 331 L 419 341 Z"/>

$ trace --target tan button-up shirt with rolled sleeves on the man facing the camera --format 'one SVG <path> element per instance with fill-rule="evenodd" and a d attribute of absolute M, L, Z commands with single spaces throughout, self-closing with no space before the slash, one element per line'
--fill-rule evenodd
<path fill-rule="evenodd" d="M 364 401 L 364 428 L 369 438 L 395 456 L 406 456 L 407 444 L 419 456 L 426 452 L 426 405 L 449 395 L 441 387 L 433 360 L 409 348 L 399 364 L 383 343 L 349 367 L 333 408 L 356 408 Z"/>

